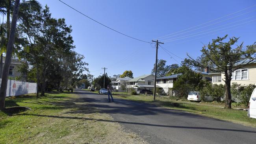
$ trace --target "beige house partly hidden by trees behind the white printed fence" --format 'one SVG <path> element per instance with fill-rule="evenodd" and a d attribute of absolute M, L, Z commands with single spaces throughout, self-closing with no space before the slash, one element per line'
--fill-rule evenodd
<path fill-rule="evenodd" d="M 4 61 L 5 61 L 5 57 L 3 58 L 3 68 L 4 68 Z M 8 77 L 15 79 L 19 76 L 21 76 L 21 72 L 18 72 L 19 70 L 19 66 L 21 66 L 23 63 L 27 63 L 26 60 L 18 60 L 18 59 L 12 59 L 11 60 L 11 65 L 9 68 L 9 73 L 8 73 Z"/>

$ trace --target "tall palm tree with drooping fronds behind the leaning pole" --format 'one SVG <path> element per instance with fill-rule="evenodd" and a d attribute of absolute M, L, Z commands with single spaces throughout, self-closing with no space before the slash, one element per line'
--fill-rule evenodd
<path fill-rule="evenodd" d="M 0 13 L 2 15 L 7 15 L 6 20 L 6 34 L 7 34 L 7 42 L 9 39 L 9 33 L 10 33 L 10 16 L 13 12 L 15 0 L 1 0 L 0 2 Z M 20 3 L 19 6 L 19 15 L 18 19 L 22 20 L 24 24 L 28 24 L 27 19 L 30 17 L 28 14 L 28 11 L 39 11 L 41 9 L 41 4 L 37 2 L 37 0 L 28 0 Z M 6 45 L 7 47 L 7 45 Z M 3 67 L 3 52 L 6 50 L 1 47 L 1 58 L 0 58 L 0 78 L 2 78 L 2 67 Z"/>

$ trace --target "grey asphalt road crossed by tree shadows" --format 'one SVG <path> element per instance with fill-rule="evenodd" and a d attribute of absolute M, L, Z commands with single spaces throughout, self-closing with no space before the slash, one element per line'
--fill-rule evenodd
<path fill-rule="evenodd" d="M 253 127 L 148 103 L 122 99 L 108 102 L 107 95 L 83 90 L 75 92 L 81 101 L 110 114 L 113 122 L 151 144 L 256 144 L 256 128 Z"/>

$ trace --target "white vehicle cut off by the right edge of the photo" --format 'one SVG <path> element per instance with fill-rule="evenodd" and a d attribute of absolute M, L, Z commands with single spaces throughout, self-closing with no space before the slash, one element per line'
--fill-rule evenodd
<path fill-rule="evenodd" d="M 256 118 L 256 88 L 253 90 L 252 95 L 250 96 L 248 107 L 248 116 L 250 118 Z"/>

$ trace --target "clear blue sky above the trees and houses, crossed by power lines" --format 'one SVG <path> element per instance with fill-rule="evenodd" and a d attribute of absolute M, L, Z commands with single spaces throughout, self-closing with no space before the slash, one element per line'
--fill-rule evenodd
<path fill-rule="evenodd" d="M 104 66 L 108 68 L 106 72 L 110 76 L 122 74 L 125 70 L 132 70 L 135 77 L 151 73 L 156 55 L 156 49 L 152 48 L 153 44 L 151 46 L 111 31 L 58 0 L 39 0 L 39 2 L 43 6 L 47 4 L 50 7 L 52 17 L 65 18 L 66 23 L 72 25 L 75 51 L 85 56 L 84 61 L 89 63 L 91 74 L 98 76 L 103 73 L 101 68 Z M 63 2 L 115 30 L 144 41 L 151 41 L 256 5 L 255 0 L 63 0 Z M 239 43 L 243 41 L 245 45 L 253 44 L 256 41 L 255 19 L 256 6 L 187 30 L 194 31 L 187 33 L 182 31 L 180 33 L 183 34 L 180 35 L 176 33 L 174 34 L 176 36 L 167 38 L 172 39 L 170 42 L 162 46 L 173 54 L 185 58 L 187 53 L 193 57 L 199 56 L 203 44 L 208 44 L 211 39 L 225 34 L 230 37 L 240 37 Z M 196 28 L 200 29 L 195 30 Z M 166 60 L 167 65 L 182 61 L 179 57 L 172 54 L 171 56 L 173 58 L 162 48 L 158 50 L 158 59 Z"/>

